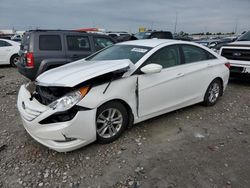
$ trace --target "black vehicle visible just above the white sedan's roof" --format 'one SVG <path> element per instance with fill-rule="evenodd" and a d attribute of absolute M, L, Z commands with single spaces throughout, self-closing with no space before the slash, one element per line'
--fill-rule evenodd
<path fill-rule="evenodd" d="M 137 39 L 173 39 L 173 34 L 170 31 L 146 31 L 134 34 Z"/>

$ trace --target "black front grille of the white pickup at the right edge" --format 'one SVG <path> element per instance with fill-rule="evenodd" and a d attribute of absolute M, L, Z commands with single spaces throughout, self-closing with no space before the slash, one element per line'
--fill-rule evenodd
<path fill-rule="evenodd" d="M 231 60 L 250 61 L 250 50 L 223 48 L 221 55 Z"/>

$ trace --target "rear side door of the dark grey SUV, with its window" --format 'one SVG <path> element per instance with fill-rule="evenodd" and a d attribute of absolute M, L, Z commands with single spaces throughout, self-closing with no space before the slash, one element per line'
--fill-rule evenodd
<path fill-rule="evenodd" d="M 68 34 L 64 37 L 66 41 L 66 56 L 69 62 L 85 58 L 94 52 L 88 35 Z"/>

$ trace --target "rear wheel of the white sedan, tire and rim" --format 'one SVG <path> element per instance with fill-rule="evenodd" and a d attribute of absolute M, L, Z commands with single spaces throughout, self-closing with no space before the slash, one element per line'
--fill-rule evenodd
<path fill-rule="evenodd" d="M 206 91 L 203 104 L 205 106 L 213 106 L 222 95 L 222 83 L 219 79 L 213 80 Z"/>

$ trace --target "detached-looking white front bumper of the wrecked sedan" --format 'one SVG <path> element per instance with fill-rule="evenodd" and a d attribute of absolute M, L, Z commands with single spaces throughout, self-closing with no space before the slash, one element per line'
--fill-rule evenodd
<path fill-rule="evenodd" d="M 53 150 L 72 151 L 96 140 L 96 109 L 79 110 L 69 121 L 44 123 L 57 111 L 31 99 L 25 85 L 19 90 L 17 107 L 27 132 Z"/>

